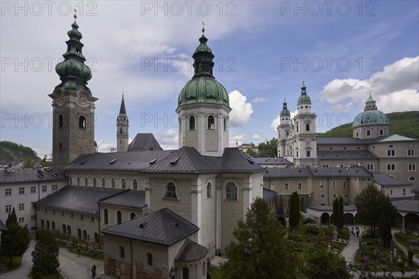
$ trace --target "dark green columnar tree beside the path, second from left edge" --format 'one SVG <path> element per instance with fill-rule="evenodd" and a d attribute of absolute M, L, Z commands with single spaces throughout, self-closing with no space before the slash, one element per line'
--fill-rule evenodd
<path fill-rule="evenodd" d="M 36 245 L 32 251 L 32 273 L 42 272 L 43 275 L 56 273 L 59 267 L 59 246 L 55 233 L 40 229 L 36 232 Z"/>

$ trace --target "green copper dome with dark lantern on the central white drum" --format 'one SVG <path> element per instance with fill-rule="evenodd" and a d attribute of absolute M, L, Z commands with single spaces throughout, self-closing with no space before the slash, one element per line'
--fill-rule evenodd
<path fill-rule="evenodd" d="M 203 33 L 204 31 L 205 29 L 203 29 Z M 198 45 L 192 56 L 194 59 L 194 75 L 180 91 L 178 105 L 214 103 L 230 107 L 226 89 L 212 75 L 214 54 L 208 47 L 207 41 L 208 39 L 204 34 L 199 38 L 200 45 Z"/>

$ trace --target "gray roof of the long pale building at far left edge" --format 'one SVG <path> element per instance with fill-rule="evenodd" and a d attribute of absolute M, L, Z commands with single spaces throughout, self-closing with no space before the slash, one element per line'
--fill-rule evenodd
<path fill-rule="evenodd" d="M 10 171 L 10 172 L 9 172 Z M 24 183 L 38 181 L 62 181 L 67 180 L 66 174 L 61 170 L 48 169 L 9 169 L 0 171 L 0 183 Z"/>

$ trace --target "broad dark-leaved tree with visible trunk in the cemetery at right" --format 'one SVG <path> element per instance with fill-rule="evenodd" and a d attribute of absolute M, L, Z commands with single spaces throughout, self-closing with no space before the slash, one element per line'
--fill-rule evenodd
<path fill-rule="evenodd" d="M 388 196 L 381 193 L 372 184 L 369 184 L 361 193 L 358 193 L 354 201 L 360 223 L 369 225 L 373 238 L 376 236 L 376 226 L 381 214 L 388 216 L 390 222 L 397 214 L 397 209 L 391 204 Z"/>

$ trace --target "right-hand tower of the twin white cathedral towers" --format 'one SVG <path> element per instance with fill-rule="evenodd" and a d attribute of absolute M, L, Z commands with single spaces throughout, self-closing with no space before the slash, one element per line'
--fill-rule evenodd
<path fill-rule="evenodd" d="M 294 166 L 317 167 L 316 114 L 311 112 L 311 99 L 302 82 L 301 95 L 297 100 L 294 118 Z"/>

